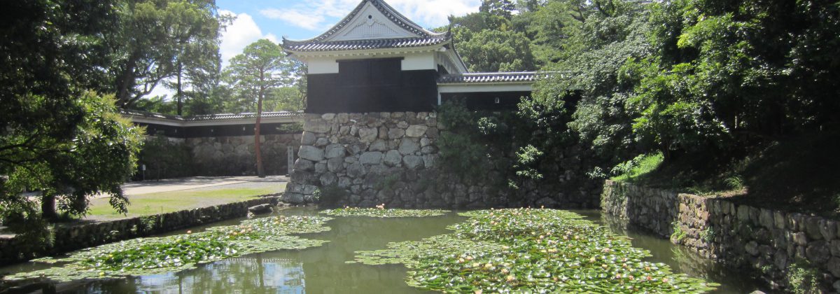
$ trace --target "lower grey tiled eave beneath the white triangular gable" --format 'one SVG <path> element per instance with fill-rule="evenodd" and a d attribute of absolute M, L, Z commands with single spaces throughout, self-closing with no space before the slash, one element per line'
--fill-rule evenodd
<path fill-rule="evenodd" d="M 349 41 L 330 42 L 298 42 L 284 40 L 283 47 L 291 51 L 337 51 L 337 50 L 365 50 L 385 48 L 409 48 L 438 45 L 449 41 L 449 35 L 443 37 L 428 38 L 402 38 L 402 39 L 360 39 Z"/>

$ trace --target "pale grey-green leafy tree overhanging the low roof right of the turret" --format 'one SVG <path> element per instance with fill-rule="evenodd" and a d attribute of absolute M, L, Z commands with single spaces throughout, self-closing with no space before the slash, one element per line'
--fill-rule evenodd
<path fill-rule="evenodd" d="M 558 44 L 562 51 L 555 53 L 559 62 L 543 69 L 555 73 L 537 83 L 533 99 L 523 102 L 520 112 L 553 125 L 549 134 L 566 142 L 576 138 L 595 151 L 600 164 L 610 167 L 638 152 L 631 127 L 636 112 L 627 99 L 639 77 L 627 65 L 652 54 L 648 13 L 643 4 L 633 2 L 612 3 L 614 9 L 608 12 L 597 3 L 583 3 L 588 6 L 582 8 L 581 3 L 572 4 L 547 8 L 569 13 L 574 20 L 563 20 L 554 30 L 565 36 Z"/>

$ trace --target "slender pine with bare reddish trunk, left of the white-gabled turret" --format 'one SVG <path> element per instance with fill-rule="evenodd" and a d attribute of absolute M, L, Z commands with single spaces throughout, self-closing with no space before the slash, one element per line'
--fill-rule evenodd
<path fill-rule="evenodd" d="M 245 105 L 254 102 L 256 104 L 254 146 L 259 176 L 265 176 L 260 152 L 263 102 L 276 94 L 281 87 L 294 87 L 300 78 L 296 76 L 296 72 L 301 68 L 297 61 L 286 59 L 280 45 L 268 39 L 260 39 L 246 46 L 242 54 L 231 59 L 230 66 L 224 72 L 225 79 L 238 100 Z"/>

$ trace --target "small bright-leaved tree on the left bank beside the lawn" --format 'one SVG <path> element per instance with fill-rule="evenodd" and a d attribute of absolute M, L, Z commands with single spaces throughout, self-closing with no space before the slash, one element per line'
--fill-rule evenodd
<path fill-rule="evenodd" d="M 55 142 L 59 152 L 24 165 L 13 179 L 41 190 L 46 218 L 57 217 L 55 204 L 61 212 L 84 215 L 88 199 L 99 193 L 125 213 L 129 201 L 120 185 L 134 174 L 142 132 L 118 113 L 113 97 L 86 92 L 78 101 L 85 113 L 71 142 Z"/>

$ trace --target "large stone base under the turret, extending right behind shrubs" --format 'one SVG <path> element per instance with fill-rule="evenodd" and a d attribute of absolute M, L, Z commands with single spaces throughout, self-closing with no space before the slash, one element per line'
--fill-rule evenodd
<path fill-rule="evenodd" d="M 558 176 L 507 188 L 506 166 L 499 165 L 510 165 L 511 155 L 494 155 L 496 167 L 484 179 L 448 174 L 438 162 L 437 140 L 446 130 L 437 113 L 307 114 L 303 129 L 285 202 L 316 202 L 318 189 L 336 186 L 342 192 L 336 204 L 354 207 L 598 206 L 601 185 L 559 166 Z M 575 165 L 573 157 L 565 161 Z"/>

